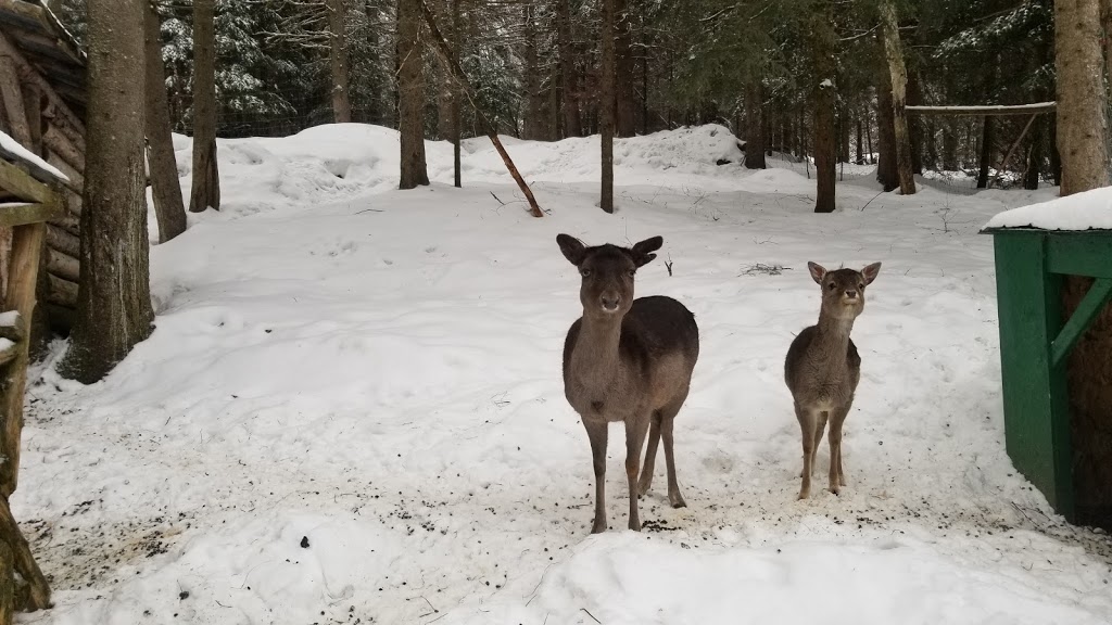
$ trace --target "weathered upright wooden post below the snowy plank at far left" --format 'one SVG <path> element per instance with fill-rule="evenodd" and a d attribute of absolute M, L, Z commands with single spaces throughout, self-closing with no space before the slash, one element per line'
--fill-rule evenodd
<path fill-rule="evenodd" d="M 6 310 L 18 310 L 28 321 L 34 314 L 34 287 L 39 275 L 39 250 L 46 237 L 46 224 L 19 226 L 12 230 L 11 277 L 4 298 Z M 27 334 L 27 328 L 23 328 Z M 23 431 L 23 387 L 27 384 L 28 341 L 19 343 L 19 355 L 11 364 L 8 384 L 0 396 L 0 498 L 7 499 L 19 483 L 19 452 Z M 14 546 L 14 545 L 13 545 Z"/>

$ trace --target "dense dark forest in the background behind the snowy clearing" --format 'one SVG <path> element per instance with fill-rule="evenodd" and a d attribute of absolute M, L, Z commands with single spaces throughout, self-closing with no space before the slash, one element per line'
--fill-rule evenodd
<path fill-rule="evenodd" d="M 62 0 L 79 34 L 83 2 Z M 1060 176 L 1051 115 L 1026 132 L 1024 117 L 898 115 L 901 102 L 1053 100 L 1051 0 L 217 0 L 217 135 L 348 120 L 484 135 L 428 41 L 407 43 L 421 3 L 504 135 L 595 135 L 613 113 L 618 138 L 721 123 L 761 155 L 814 159 L 822 179 L 828 163 L 880 161 L 881 182 L 903 192 L 924 170 L 984 185 Z M 173 129 L 192 133 L 192 3 L 157 4 Z"/>

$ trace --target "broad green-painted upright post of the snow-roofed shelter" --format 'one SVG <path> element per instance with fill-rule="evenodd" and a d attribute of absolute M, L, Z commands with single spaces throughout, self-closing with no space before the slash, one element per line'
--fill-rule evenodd
<path fill-rule="evenodd" d="M 1065 369 L 1051 359 L 1051 344 L 1062 328 L 1062 279 L 1048 270 L 1044 231 L 996 231 L 993 241 L 1007 455 L 1072 520 Z"/>

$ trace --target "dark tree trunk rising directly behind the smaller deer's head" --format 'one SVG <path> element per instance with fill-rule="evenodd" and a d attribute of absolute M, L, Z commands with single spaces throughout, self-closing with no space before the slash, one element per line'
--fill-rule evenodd
<path fill-rule="evenodd" d="M 837 92 L 834 87 L 836 41 L 833 27 L 833 2 L 826 0 L 822 10 L 816 10 L 812 18 L 812 67 L 815 71 L 815 85 L 812 87 L 812 131 L 815 153 L 815 212 L 834 212 L 835 181 L 837 180 L 836 162 L 837 128 L 834 119 L 834 108 Z M 801 137 L 803 135 L 801 133 Z"/>

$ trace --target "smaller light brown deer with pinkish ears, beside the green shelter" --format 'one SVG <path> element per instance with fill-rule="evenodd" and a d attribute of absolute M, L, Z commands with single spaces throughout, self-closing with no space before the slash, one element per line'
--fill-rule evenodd
<path fill-rule="evenodd" d="M 811 495 L 811 474 L 815 453 L 830 420 L 831 493 L 845 486 L 842 473 L 842 424 L 845 423 L 853 395 L 861 380 L 861 356 L 850 339 L 853 321 L 865 309 L 865 287 L 876 279 L 881 264 L 874 262 L 861 271 L 837 269 L 827 271 L 807 262 L 811 277 L 822 287 L 823 304 L 818 324 L 805 328 L 795 337 L 784 360 L 784 380 L 795 400 L 795 416 L 803 435 L 803 485 L 800 498 Z"/>

